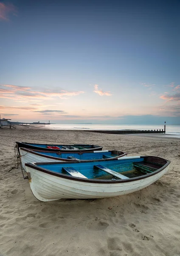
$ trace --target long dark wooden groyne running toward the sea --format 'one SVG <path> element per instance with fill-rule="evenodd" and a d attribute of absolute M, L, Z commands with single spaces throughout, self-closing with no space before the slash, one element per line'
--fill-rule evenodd
<path fill-rule="evenodd" d="M 90 132 L 98 132 L 104 134 L 145 134 L 145 133 L 166 133 L 166 130 L 83 130 Z"/>

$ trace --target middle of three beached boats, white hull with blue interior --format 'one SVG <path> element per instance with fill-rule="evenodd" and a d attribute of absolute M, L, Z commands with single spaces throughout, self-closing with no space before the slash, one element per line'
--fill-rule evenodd
<path fill-rule="evenodd" d="M 104 160 L 107 158 L 118 158 L 124 157 L 127 153 L 122 151 L 73 151 L 67 153 L 66 151 L 52 152 L 52 151 L 43 151 L 37 149 L 28 149 L 28 148 L 19 148 L 20 151 L 20 160 L 25 169 L 25 163 L 34 163 L 34 162 L 59 162 L 59 161 L 92 161 L 92 160 Z"/>

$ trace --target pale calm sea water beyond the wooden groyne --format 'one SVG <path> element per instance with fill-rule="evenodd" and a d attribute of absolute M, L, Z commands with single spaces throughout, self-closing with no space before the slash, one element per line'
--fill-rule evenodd
<path fill-rule="evenodd" d="M 53 130 L 162 130 L 164 125 L 52 124 L 46 125 L 45 128 Z M 180 138 L 180 125 L 166 124 L 166 134 L 159 135 Z"/>

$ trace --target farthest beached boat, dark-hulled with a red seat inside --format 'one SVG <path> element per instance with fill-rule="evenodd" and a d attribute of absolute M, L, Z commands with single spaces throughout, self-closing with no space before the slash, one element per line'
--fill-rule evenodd
<path fill-rule="evenodd" d="M 57 144 L 37 144 L 37 143 L 27 143 L 27 142 L 16 142 L 17 148 L 31 148 L 44 151 L 92 151 L 92 150 L 102 150 L 101 146 L 98 145 L 88 145 L 88 144 L 74 144 L 74 145 L 57 145 Z"/>

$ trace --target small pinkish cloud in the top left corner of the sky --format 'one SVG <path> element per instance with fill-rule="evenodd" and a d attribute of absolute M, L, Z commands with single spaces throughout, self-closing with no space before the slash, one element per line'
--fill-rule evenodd
<path fill-rule="evenodd" d="M 17 8 L 11 4 L 5 4 L 5 3 L 0 3 L 0 20 L 9 20 L 10 15 L 15 15 L 17 16 Z"/>

